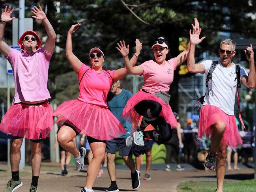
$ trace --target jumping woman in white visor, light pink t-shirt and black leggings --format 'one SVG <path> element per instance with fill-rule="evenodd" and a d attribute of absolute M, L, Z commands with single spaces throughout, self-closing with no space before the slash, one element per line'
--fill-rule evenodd
<path fill-rule="evenodd" d="M 194 21 L 195 26 L 192 24 L 192 27 L 195 29 L 198 27 L 198 22 L 196 18 Z M 133 67 L 128 58 L 129 46 L 118 44 L 117 49 L 123 56 L 128 73 L 144 77 L 142 89 L 129 99 L 122 114 L 124 119 L 135 123 L 135 125 L 139 125 L 141 120 L 140 127 L 135 127 L 132 135 L 127 138 L 127 146 L 132 145 L 133 142 L 136 145 L 144 146 L 143 137 L 161 142 L 167 142 L 172 138 L 171 129 L 177 126 L 177 121 L 169 105 L 170 95 L 168 96 L 167 93 L 174 78 L 174 70 L 187 60 L 189 48 L 190 42 L 186 50 L 176 58 L 166 61 L 166 55 L 169 52 L 168 41 L 164 37 L 159 37 L 151 47 L 155 60 L 146 61 Z M 154 129 L 152 126 L 149 129 L 149 124 Z"/>

